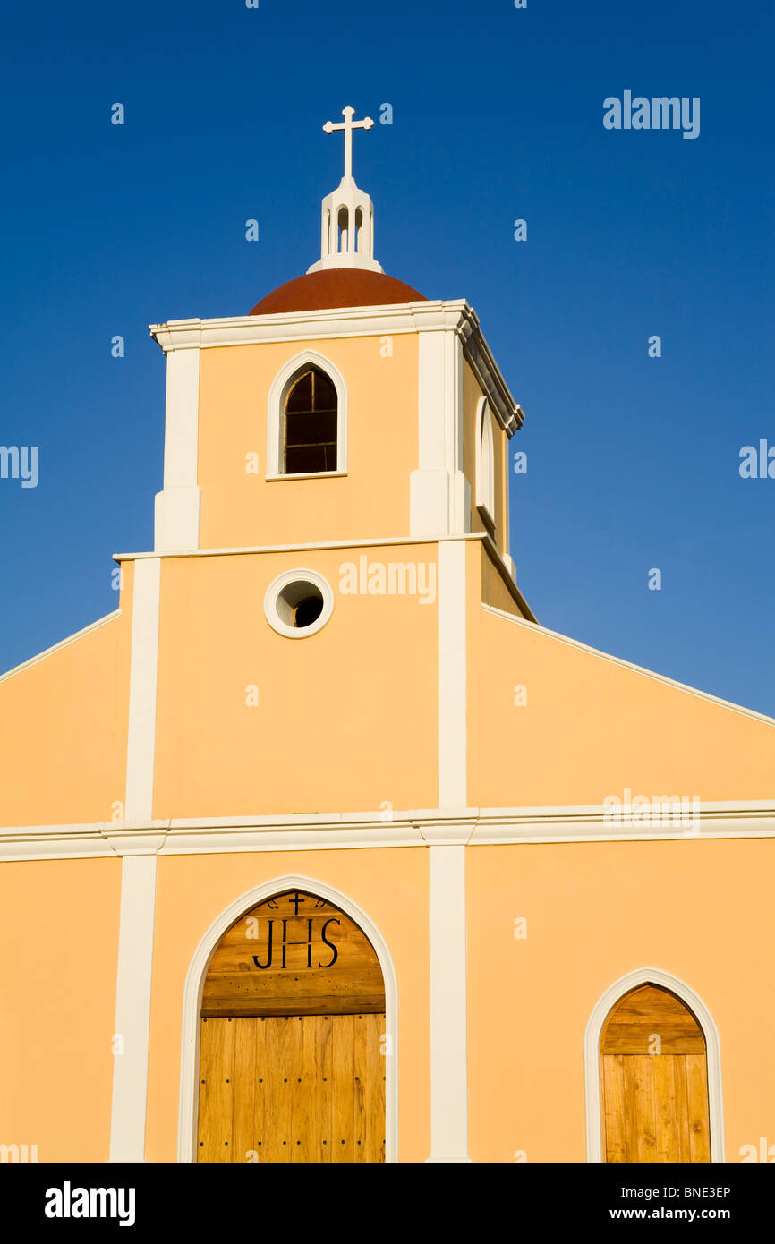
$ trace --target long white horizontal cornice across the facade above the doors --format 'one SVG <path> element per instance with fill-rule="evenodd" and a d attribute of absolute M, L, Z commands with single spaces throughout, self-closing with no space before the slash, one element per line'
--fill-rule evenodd
<path fill-rule="evenodd" d="M 610 815 L 588 805 L 422 809 L 394 812 L 389 822 L 373 811 L 30 825 L 0 830 L 0 860 L 775 837 L 775 800 L 700 804 L 697 826 L 684 830 L 617 826 Z"/>

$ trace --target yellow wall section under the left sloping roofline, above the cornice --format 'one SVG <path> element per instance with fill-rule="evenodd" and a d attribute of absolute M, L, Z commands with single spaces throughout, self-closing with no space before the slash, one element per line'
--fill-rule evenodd
<path fill-rule="evenodd" d="M 0 680 L 0 825 L 109 821 L 123 801 L 132 573 L 118 617 Z"/>

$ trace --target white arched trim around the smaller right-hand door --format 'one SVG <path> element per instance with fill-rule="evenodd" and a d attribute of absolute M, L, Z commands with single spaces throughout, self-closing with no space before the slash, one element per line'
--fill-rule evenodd
<path fill-rule="evenodd" d="M 713 1015 L 702 998 L 689 989 L 685 980 L 662 972 L 661 968 L 636 968 L 621 977 L 595 1005 L 583 1039 L 585 1092 L 587 1098 L 587 1162 L 602 1162 L 603 1135 L 600 1084 L 600 1039 L 610 1011 L 621 998 L 638 985 L 662 985 L 669 989 L 697 1016 L 705 1037 L 708 1056 L 708 1113 L 710 1122 L 710 1161 L 724 1162 L 724 1102 L 722 1096 L 722 1042 Z"/>

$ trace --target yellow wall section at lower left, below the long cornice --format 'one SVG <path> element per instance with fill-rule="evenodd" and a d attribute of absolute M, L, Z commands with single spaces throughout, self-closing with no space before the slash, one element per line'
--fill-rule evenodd
<path fill-rule="evenodd" d="M 0 866 L 0 1143 L 106 1162 L 121 861 Z"/>

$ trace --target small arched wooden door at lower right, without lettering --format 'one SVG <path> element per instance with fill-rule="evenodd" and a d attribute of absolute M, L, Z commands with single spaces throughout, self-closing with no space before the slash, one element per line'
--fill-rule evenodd
<path fill-rule="evenodd" d="M 616 1004 L 600 1042 L 603 1162 L 710 1162 L 705 1037 L 652 984 Z"/>

